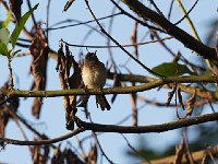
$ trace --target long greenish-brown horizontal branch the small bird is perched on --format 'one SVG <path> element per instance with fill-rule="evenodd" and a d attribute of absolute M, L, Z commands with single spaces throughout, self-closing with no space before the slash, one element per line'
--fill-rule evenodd
<path fill-rule="evenodd" d="M 142 77 L 141 77 L 142 78 Z M 145 78 L 146 79 L 146 78 Z M 125 86 L 125 87 L 107 87 L 104 90 L 99 89 L 73 89 L 73 90 L 56 90 L 56 91 L 22 91 L 22 90 L 0 90 L 0 95 L 8 97 L 56 97 L 65 95 L 96 95 L 96 94 L 129 94 L 135 92 L 143 92 L 164 84 L 170 83 L 194 83 L 194 82 L 208 82 L 217 83 L 218 75 L 189 75 L 189 77 L 169 77 L 165 79 L 155 79 L 148 83 L 137 85 L 137 86 Z M 184 86 L 185 87 L 185 86 Z M 189 90 L 189 89 L 187 89 Z M 218 99 L 218 94 L 216 92 L 205 92 L 205 98 Z"/>

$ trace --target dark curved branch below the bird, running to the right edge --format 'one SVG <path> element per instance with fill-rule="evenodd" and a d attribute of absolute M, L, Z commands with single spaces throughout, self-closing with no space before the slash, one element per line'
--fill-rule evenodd
<path fill-rule="evenodd" d="M 218 120 L 218 113 L 206 114 L 197 117 L 179 119 L 175 121 L 152 125 L 152 126 L 116 126 L 116 125 L 100 125 L 86 122 L 74 116 L 73 118 L 78 127 L 85 130 L 93 130 L 95 132 L 119 132 L 119 133 L 149 133 L 149 132 L 165 132 L 168 130 L 174 130 L 182 127 L 190 127 L 193 125 L 199 125 L 203 122 Z"/>

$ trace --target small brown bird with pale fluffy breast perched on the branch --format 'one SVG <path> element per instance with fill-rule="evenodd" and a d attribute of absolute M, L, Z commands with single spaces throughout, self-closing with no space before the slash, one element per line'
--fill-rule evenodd
<path fill-rule="evenodd" d="M 82 79 L 86 89 L 102 89 L 106 84 L 107 71 L 105 65 L 98 60 L 96 52 L 87 52 L 82 68 Z M 101 110 L 110 110 L 110 105 L 104 94 L 96 95 L 96 104 Z"/>

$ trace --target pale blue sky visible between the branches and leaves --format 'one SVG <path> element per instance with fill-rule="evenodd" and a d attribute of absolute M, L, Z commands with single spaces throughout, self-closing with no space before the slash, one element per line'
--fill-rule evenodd
<path fill-rule="evenodd" d="M 47 1 L 45 0 L 35 0 L 31 1 L 32 5 L 39 2 L 38 9 L 34 12 L 37 21 L 46 22 L 46 7 Z M 148 1 L 144 1 L 147 7 L 149 7 Z M 186 1 L 182 0 L 185 5 L 185 9 L 189 10 L 194 0 Z M 76 0 L 73 5 L 66 11 L 62 12 L 65 1 L 58 1 L 51 0 L 50 7 L 50 20 L 49 24 L 52 25 L 57 22 L 66 20 L 66 19 L 74 19 L 80 21 L 89 21 L 93 20 L 90 13 L 86 9 L 85 2 L 82 0 Z M 97 17 L 106 16 L 111 14 L 112 5 L 109 0 L 104 1 L 89 1 L 92 10 L 95 12 Z M 169 10 L 170 0 L 156 0 L 157 5 L 160 8 L 162 13 L 167 15 Z M 125 5 L 121 4 L 123 9 L 130 11 Z M 193 20 L 193 23 L 199 34 L 201 39 L 204 42 L 206 38 L 206 34 L 209 31 L 208 24 L 215 17 L 217 17 L 217 8 L 218 3 L 216 0 L 199 0 L 198 4 L 195 9 L 191 12 L 190 16 Z M 24 1 L 22 5 L 22 14 L 27 11 L 26 2 Z M 117 10 L 118 12 L 118 10 Z M 4 20 L 5 12 L 0 5 L 0 20 Z M 171 22 L 177 22 L 182 17 L 182 14 L 174 3 Z M 108 30 L 109 20 L 105 20 L 100 22 L 102 26 Z M 27 28 L 31 30 L 32 20 L 29 19 L 27 22 Z M 73 22 L 72 22 L 73 24 Z M 97 26 L 96 23 L 92 23 L 90 25 Z M 183 21 L 179 25 L 182 30 L 191 33 L 187 24 Z M 44 26 L 46 27 L 46 26 Z M 131 44 L 130 36 L 132 34 L 132 30 L 134 27 L 134 22 L 131 21 L 129 17 L 124 15 L 116 16 L 113 25 L 112 25 L 112 33 L 111 35 L 122 44 Z M 99 27 L 97 27 L 99 28 Z M 13 30 L 13 24 L 10 24 L 10 30 Z M 70 44 L 81 44 L 84 36 L 87 34 L 89 28 L 86 26 L 76 26 L 76 27 L 69 27 L 64 30 L 51 31 L 49 33 L 49 46 L 53 50 L 58 50 L 59 48 L 59 40 L 63 38 L 63 40 Z M 147 28 L 140 25 L 138 37 L 142 37 L 147 32 Z M 24 35 L 22 35 L 24 37 Z M 161 35 L 165 36 L 165 35 Z M 150 40 L 149 37 L 146 37 L 145 40 Z M 107 39 L 102 37 L 96 32 L 93 32 L 88 39 L 85 42 L 85 45 L 106 45 Z M 196 54 L 192 52 L 190 49 L 186 49 L 182 44 L 177 42 L 175 39 L 167 40 L 166 44 L 177 52 L 180 50 L 182 55 L 184 55 L 190 60 L 195 60 L 199 62 L 199 58 L 196 57 Z M 20 47 L 16 47 L 17 49 Z M 133 52 L 133 48 L 126 48 L 130 52 Z M 70 47 L 70 50 L 75 56 L 75 59 L 78 59 L 78 55 L 82 52 L 85 55 L 87 52 L 86 48 L 75 48 Z M 88 49 L 89 51 L 97 50 L 97 55 L 99 60 L 102 62 L 107 62 L 108 59 L 108 50 L 107 49 Z M 158 44 L 150 44 L 140 46 L 140 59 L 149 68 L 153 68 L 161 62 L 169 62 L 172 58 L 168 55 L 168 52 Z M 26 51 L 26 49 L 22 49 L 22 51 Z M 120 49 L 114 48 L 112 49 L 113 57 L 116 62 L 119 66 L 122 66 L 128 60 L 128 56 Z M 14 58 L 12 61 L 15 87 L 20 90 L 28 90 L 32 82 L 33 77 L 29 75 L 29 67 L 31 67 L 32 57 L 26 56 L 22 58 Z M 47 90 L 60 90 L 60 83 L 58 79 L 58 73 L 56 72 L 56 65 L 57 61 L 53 59 L 49 59 L 48 61 L 48 81 L 47 81 Z M 2 85 L 8 80 L 8 62 L 5 57 L 0 57 L 0 85 Z M 128 67 L 135 74 L 142 75 L 149 75 L 145 70 L 143 70 L 134 61 L 130 61 Z M 126 70 L 120 68 L 122 73 L 128 73 Z M 111 86 L 112 81 L 107 81 L 108 86 Z M 140 93 L 149 99 L 156 99 L 158 102 L 166 102 L 167 101 L 167 92 L 165 90 L 157 91 L 157 89 L 146 91 Z M 107 96 L 108 99 L 111 98 L 111 95 Z M 40 114 L 40 119 L 36 120 L 31 114 L 31 106 L 33 103 L 33 98 L 23 99 L 21 98 L 21 105 L 19 108 L 19 114 L 28 118 L 28 121 L 39 131 L 45 132 L 50 138 L 57 138 L 63 136 L 70 131 L 65 129 L 64 122 L 64 109 L 62 105 L 61 97 L 52 97 L 52 98 L 45 98 L 43 110 Z M 138 102 L 138 107 L 143 106 L 140 110 L 138 115 L 138 125 L 154 125 L 154 124 L 162 124 L 167 121 L 175 120 L 175 109 L 174 108 L 160 108 L 152 105 L 145 105 Z M 131 99 L 130 95 L 119 95 L 113 104 L 111 104 L 110 112 L 101 112 L 95 106 L 94 97 L 90 98 L 89 104 L 89 112 L 92 115 L 92 119 L 94 122 L 99 124 L 117 124 L 118 121 L 122 120 L 125 116 L 130 115 L 131 109 Z M 209 110 L 208 110 L 209 112 Z M 85 120 L 84 113 L 78 109 L 77 116 Z M 130 126 L 132 125 L 132 119 L 130 118 L 123 125 Z M 27 131 L 27 130 L 26 130 Z M 168 131 L 162 133 L 148 133 L 148 134 L 125 134 L 131 142 L 132 145 L 137 148 L 138 141 L 146 140 L 146 147 L 150 148 L 158 148 L 158 151 L 162 151 L 167 149 L 167 147 L 171 144 L 179 144 L 181 136 L 180 130 Z M 29 140 L 33 139 L 33 133 L 26 132 Z M 89 131 L 81 133 L 77 136 L 78 139 L 90 134 Z M 194 132 L 191 132 L 191 139 L 194 138 Z M 23 140 L 21 132 L 17 130 L 16 125 L 13 121 L 10 121 L 9 126 L 7 127 L 7 137 L 11 139 L 20 139 Z M 132 161 L 130 157 L 126 156 L 125 151 L 128 150 L 126 143 L 123 140 L 122 136 L 119 133 L 104 133 L 99 136 L 99 142 L 105 150 L 105 153 L 114 162 L 119 164 L 124 163 L 136 163 L 137 161 Z M 69 139 L 69 142 L 75 148 L 77 148 L 77 142 L 75 138 Z M 84 148 L 89 148 L 93 142 L 87 140 L 84 143 Z M 66 145 L 65 142 L 62 143 L 62 148 Z M 100 154 L 100 152 L 99 152 Z M 0 162 L 5 163 L 31 163 L 29 152 L 27 147 L 16 147 L 16 145 L 7 145 L 4 151 L 0 152 Z M 104 159 L 104 163 L 107 161 Z"/>

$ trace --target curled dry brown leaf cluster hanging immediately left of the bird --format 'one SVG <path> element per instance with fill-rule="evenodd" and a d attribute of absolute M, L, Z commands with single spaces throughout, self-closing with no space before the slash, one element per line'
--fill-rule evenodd
<path fill-rule="evenodd" d="M 70 69 L 73 66 L 73 74 L 70 75 Z M 61 42 L 58 50 L 58 63 L 56 70 L 59 71 L 59 80 L 63 90 L 78 89 L 81 85 L 81 69 L 78 63 L 74 60 L 74 57 L 65 45 L 65 55 L 63 52 L 63 43 Z M 63 106 L 65 109 L 66 129 L 73 130 L 74 122 L 71 119 L 72 115 L 77 112 L 76 96 L 64 96 Z"/>

